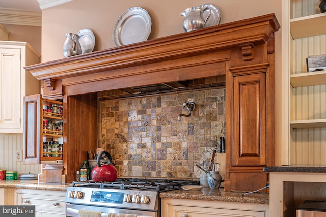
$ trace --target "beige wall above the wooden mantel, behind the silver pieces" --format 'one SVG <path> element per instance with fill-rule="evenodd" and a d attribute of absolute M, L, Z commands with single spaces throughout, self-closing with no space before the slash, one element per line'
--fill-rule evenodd
<path fill-rule="evenodd" d="M 282 1 L 211 1 L 220 9 L 221 22 L 246 19 L 269 13 L 275 13 L 281 22 Z M 120 1 L 113 3 L 106 0 L 71 1 L 42 11 L 42 62 L 63 58 L 62 46 L 66 33 L 77 33 L 80 29 L 93 31 L 96 42 L 94 50 L 114 47 L 112 42 L 113 27 L 118 17 L 127 9 L 142 7 L 151 16 L 152 29 L 149 39 L 183 33 L 183 16 L 186 8 L 203 4 L 199 0 L 180 1 Z"/>

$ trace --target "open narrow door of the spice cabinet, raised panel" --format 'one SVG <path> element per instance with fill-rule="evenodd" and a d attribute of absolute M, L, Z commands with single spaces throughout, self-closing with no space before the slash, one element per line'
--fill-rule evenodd
<path fill-rule="evenodd" d="M 40 94 L 24 97 L 23 164 L 40 163 L 40 105 Z"/>

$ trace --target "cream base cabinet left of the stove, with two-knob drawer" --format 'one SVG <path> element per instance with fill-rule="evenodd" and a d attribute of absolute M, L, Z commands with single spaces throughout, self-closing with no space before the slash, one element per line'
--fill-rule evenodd
<path fill-rule="evenodd" d="M 36 216 L 66 216 L 65 191 L 15 190 L 16 205 L 35 205 Z"/>

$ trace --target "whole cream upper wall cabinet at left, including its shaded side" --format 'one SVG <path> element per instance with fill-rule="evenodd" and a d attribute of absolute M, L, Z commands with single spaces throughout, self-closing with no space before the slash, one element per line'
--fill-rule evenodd
<path fill-rule="evenodd" d="M 23 132 L 23 97 L 40 92 L 39 81 L 23 67 L 39 62 L 28 43 L 0 41 L 0 133 Z"/>

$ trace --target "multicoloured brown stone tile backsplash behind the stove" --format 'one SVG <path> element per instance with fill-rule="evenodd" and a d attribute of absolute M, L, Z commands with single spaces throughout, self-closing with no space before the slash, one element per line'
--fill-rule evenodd
<path fill-rule="evenodd" d="M 188 113 L 184 101 L 196 108 L 178 121 Z M 224 88 L 100 100 L 99 112 L 101 147 L 110 152 L 118 177 L 198 179 L 195 165 L 209 162 L 225 137 Z M 216 154 L 216 161 L 223 176 L 225 154 Z"/>

